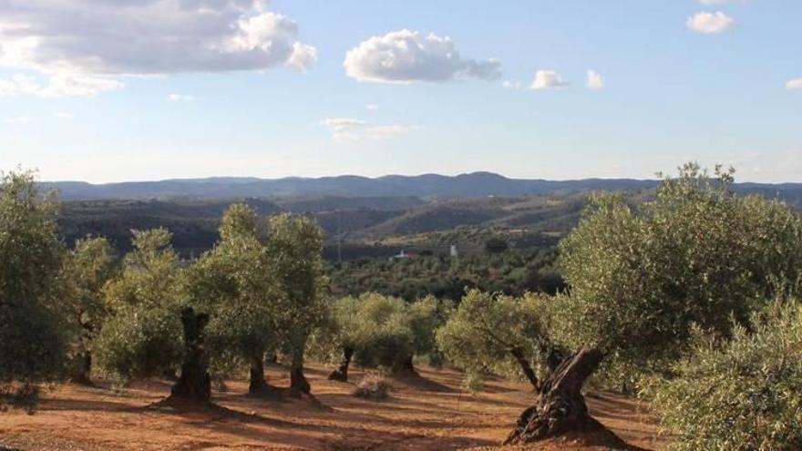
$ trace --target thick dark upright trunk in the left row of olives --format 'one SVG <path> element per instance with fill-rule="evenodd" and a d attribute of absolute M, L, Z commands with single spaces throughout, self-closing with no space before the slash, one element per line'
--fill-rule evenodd
<path fill-rule="evenodd" d="M 184 362 L 181 364 L 181 376 L 172 386 L 170 397 L 208 403 L 211 398 L 211 376 L 203 346 L 203 328 L 209 323 L 209 316 L 195 313 L 187 307 L 181 311 L 181 323 L 184 326 Z"/>

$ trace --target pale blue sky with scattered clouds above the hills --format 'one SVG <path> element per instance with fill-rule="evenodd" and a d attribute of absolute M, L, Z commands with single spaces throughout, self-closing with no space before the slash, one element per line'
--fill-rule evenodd
<path fill-rule="evenodd" d="M 802 181 L 798 0 L 0 0 L 0 169 Z"/>

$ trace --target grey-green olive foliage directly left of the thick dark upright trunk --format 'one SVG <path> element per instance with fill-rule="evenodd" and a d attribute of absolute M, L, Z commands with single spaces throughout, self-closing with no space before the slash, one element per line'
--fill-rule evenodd
<path fill-rule="evenodd" d="M 98 364 L 127 383 L 175 374 L 183 355 L 184 274 L 165 229 L 133 231 L 134 250 L 104 289 L 111 316 L 97 339 Z"/>

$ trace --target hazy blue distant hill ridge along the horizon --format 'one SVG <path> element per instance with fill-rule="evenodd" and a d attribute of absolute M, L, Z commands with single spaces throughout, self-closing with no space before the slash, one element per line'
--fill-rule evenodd
<path fill-rule="evenodd" d="M 415 207 L 420 200 L 442 198 L 465 198 L 522 195 L 571 194 L 590 190 L 648 190 L 658 184 L 657 180 L 638 179 L 509 179 L 490 172 L 474 172 L 458 176 L 425 174 L 419 176 L 388 175 L 370 179 L 359 176 L 322 177 L 317 179 L 285 178 L 211 178 L 170 179 L 161 181 L 133 181 L 93 185 L 85 182 L 45 182 L 43 187 L 55 189 L 65 200 L 150 200 L 150 199 L 242 199 L 242 198 L 296 198 L 298 210 L 326 210 L 322 206 L 332 203 L 331 210 L 356 208 L 359 202 L 344 198 L 384 198 L 392 196 L 396 201 L 406 199 L 389 208 L 382 207 L 381 200 L 365 206 L 381 210 L 398 210 Z M 779 196 L 802 206 L 802 183 L 736 185 L 742 192 L 761 192 L 769 197 Z M 316 200 L 303 200 L 316 197 Z M 300 198 L 300 199 L 298 199 Z M 339 198 L 340 205 L 334 205 Z M 418 198 L 416 200 L 416 198 Z M 306 206 L 303 204 L 306 202 Z M 345 206 L 342 203 L 350 203 Z M 422 202 L 420 202 L 422 203 Z"/>

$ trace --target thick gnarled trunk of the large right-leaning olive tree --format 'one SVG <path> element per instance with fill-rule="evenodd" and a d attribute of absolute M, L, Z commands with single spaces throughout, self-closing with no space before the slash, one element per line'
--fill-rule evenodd
<path fill-rule="evenodd" d="M 604 354 L 583 347 L 565 359 L 538 390 L 535 404 L 523 411 L 505 445 L 536 442 L 572 431 L 603 428 L 588 413 L 581 394 L 585 380 L 602 363 Z"/>

